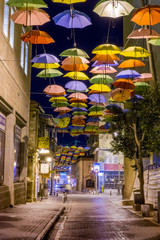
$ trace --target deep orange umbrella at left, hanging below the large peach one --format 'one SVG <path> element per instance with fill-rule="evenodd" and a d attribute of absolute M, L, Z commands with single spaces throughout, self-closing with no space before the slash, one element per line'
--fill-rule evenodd
<path fill-rule="evenodd" d="M 20 37 L 20 39 L 24 42 L 32 44 L 54 43 L 53 38 L 51 38 L 48 33 L 39 30 L 31 30 L 26 32 Z"/>

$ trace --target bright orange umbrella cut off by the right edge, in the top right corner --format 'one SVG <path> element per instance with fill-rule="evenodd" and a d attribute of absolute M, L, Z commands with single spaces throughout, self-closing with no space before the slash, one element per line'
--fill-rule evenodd
<path fill-rule="evenodd" d="M 160 6 L 146 5 L 138 8 L 131 18 L 132 22 L 138 25 L 155 25 L 160 22 Z"/>

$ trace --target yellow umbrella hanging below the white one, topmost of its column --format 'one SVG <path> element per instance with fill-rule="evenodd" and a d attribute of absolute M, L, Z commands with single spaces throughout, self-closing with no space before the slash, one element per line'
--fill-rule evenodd
<path fill-rule="evenodd" d="M 101 44 L 98 47 L 96 47 L 93 51 L 93 54 L 101 54 L 101 55 L 106 55 L 106 54 L 118 54 L 121 53 L 121 49 L 117 47 L 116 45 L 105 43 Z"/>

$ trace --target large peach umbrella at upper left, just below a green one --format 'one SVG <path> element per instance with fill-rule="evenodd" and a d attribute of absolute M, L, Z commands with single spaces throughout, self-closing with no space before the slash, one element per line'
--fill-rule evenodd
<path fill-rule="evenodd" d="M 43 25 L 50 21 L 50 16 L 42 9 L 21 8 L 11 15 L 14 23 L 22 24 L 24 26 Z"/>

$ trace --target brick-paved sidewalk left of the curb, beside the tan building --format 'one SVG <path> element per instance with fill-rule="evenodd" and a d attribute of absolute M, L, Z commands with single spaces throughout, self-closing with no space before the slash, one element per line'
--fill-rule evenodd
<path fill-rule="evenodd" d="M 62 196 L 0 210 L 0 240 L 33 240 L 62 207 Z"/>

